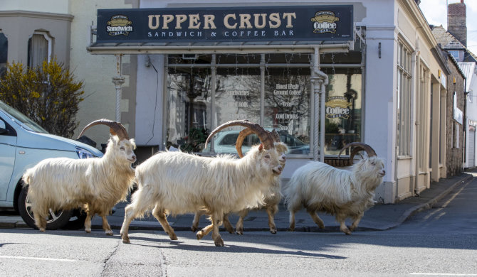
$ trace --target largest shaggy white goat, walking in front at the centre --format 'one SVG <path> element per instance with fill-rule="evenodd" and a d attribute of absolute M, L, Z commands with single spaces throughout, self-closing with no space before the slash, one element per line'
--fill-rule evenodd
<path fill-rule="evenodd" d="M 236 125 L 252 129 L 262 141 L 260 146 L 252 147 L 241 159 L 161 152 L 137 166 L 138 190 L 132 195 L 131 204 L 125 208 L 121 228 L 124 243 L 130 243 L 127 233 L 132 219 L 154 207 L 152 214 L 170 239 L 177 237 L 167 222 L 167 214 L 205 210 L 211 215 L 211 224 L 196 233 L 197 239 L 212 231 L 215 245 L 224 246 L 219 234 L 224 215 L 261 203 L 263 192 L 283 170 L 281 154 L 276 151 L 272 133 L 258 124 L 229 121 L 212 131 L 207 141 L 217 131 Z"/>

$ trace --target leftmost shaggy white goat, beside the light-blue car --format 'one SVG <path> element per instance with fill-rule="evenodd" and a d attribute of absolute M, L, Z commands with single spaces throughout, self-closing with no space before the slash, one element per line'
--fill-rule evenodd
<path fill-rule="evenodd" d="M 87 212 L 86 232 L 91 232 L 91 218 L 99 214 L 106 234 L 112 235 L 106 216 L 117 202 L 126 199 L 132 188 L 135 170 L 131 164 L 136 161 L 133 151 L 136 145 L 134 139 L 128 138 L 124 126 L 108 119 L 91 122 L 80 136 L 97 124 L 110 126 L 112 134 L 102 158 L 48 158 L 23 175 L 35 224 L 41 232 L 46 229 L 48 209 L 80 207 Z"/>

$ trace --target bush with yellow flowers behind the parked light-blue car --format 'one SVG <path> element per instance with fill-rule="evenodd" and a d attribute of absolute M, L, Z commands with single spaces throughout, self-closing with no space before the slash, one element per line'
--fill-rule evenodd
<path fill-rule="evenodd" d="M 75 116 L 83 94 L 83 82 L 75 82 L 70 71 L 56 60 L 26 70 L 21 63 L 12 63 L 0 79 L 1 101 L 51 134 L 68 138 L 78 126 Z"/>

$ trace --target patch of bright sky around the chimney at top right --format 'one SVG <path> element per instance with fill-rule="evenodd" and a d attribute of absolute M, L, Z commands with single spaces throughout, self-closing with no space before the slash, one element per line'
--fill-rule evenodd
<path fill-rule="evenodd" d="M 421 0 L 419 7 L 429 24 L 442 25 L 447 30 L 447 4 L 460 0 Z M 464 0 L 467 8 L 467 48 L 477 55 L 477 0 Z"/>

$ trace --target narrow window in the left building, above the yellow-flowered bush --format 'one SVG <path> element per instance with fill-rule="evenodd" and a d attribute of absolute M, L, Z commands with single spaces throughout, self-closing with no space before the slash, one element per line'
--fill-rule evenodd
<path fill-rule="evenodd" d="M 28 67 L 43 65 L 51 60 L 52 38 L 45 32 L 35 32 L 28 39 Z"/>

